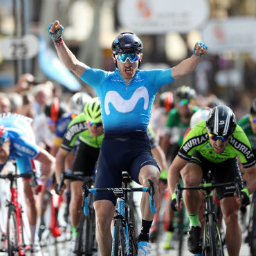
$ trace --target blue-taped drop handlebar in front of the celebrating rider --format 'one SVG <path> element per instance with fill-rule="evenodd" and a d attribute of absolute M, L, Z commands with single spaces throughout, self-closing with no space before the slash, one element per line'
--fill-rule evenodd
<path fill-rule="evenodd" d="M 122 197 L 123 194 L 129 193 L 129 192 L 148 192 L 149 193 L 149 203 L 150 203 L 150 209 L 152 213 L 156 213 L 156 205 L 154 202 L 154 183 L 151 179 L 149 181 L 148 187 L 143 188 L 88 188 L 88 184 L 86 181 L 82 184 L 82 201 L 83 201 L 83 208 L 84 208 L 84 215 L 89 214 L 89 206 L 88 206 L 88 196 L 89 194 L 93 193 L 100 193 L 100 192 L 107 192 L 115 194 L 115 196 Z"/>

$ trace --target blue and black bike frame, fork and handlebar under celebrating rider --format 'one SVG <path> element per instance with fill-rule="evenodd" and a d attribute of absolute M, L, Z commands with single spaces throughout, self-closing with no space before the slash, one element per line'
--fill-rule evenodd
<path fill-rule="evenodd" d="M 150 209 L 152 210 L 152 213 L 156 213 L 156 207 L 154 204 L 154 184 L 152 180 L 149 180 L 149 187 L 143 187 L 143 188 L 93 188 L 89 189 L 86 187 L 86 182 L 83 183 L 82 186 L 82 194 L 83 194 L 83 202 L 84 202 L 84 214 L 88 215 L 88 195 L 89 193 L 99 193 L 99 192 L 109 192 L 112 194 L 115 194 L 118 197 L 117 204 L 117 214 L 113 219 L 116 221 L 118 219 L 122 219 L 122 226 L 125 227 L 125 245 L 126 245 L 126 251 L 127 255 L 130 255 L 131 253 L 131 242 L 129 237 L 129 223 L 128 223 L 128 203 L 127 203 L 127 193 L 129 192 L 148 192 L 149 193 L 149 203 L 150 203 Z M 111 255 L 114 255 L 114 248 L 116 241 L 114 239 L 116 234 L 116 225 L 114 226 L 113 230 L 113 242 L 112 242 L 112 253 Z"/>

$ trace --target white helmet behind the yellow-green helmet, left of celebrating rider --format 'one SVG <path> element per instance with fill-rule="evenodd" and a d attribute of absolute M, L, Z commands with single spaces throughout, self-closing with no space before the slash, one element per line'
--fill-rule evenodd
<path fill-rule="evenodd" d="M 91 96 L 88 93 L 79 92 L 75 93 L 69 100 L 69 107 L 72 113 L 82 113 L 84 105 L 91 100 Z"/>

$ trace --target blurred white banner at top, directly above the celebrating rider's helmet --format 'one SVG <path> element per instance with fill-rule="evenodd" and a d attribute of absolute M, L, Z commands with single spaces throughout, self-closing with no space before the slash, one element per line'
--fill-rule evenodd
<path fill-rule="evenodd" d="M 120 0 L 120 24 L 138 34 L 188 33 L 210 15 L 207 0 Z"/>

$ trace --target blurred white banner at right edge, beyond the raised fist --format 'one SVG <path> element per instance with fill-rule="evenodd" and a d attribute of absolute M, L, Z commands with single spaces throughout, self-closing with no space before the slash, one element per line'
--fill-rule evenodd
<path fill-rule="evenodd" d="M 211 54 L 222 51 L 248 53 L 256 48 L 256 18 L 228 17 L 210 19 L 201 31 L 203 42 L 209 46 Z"/>

